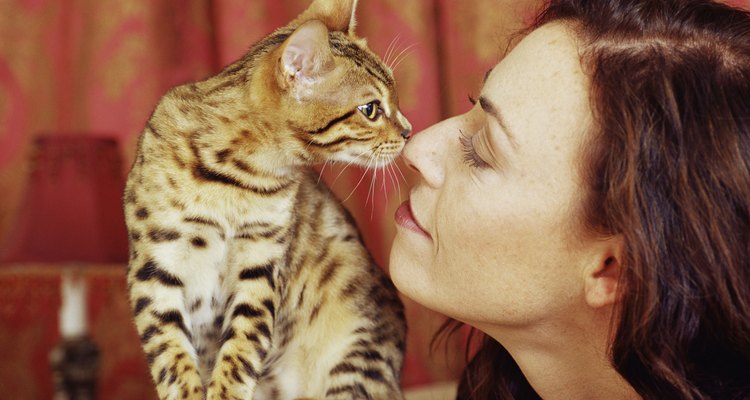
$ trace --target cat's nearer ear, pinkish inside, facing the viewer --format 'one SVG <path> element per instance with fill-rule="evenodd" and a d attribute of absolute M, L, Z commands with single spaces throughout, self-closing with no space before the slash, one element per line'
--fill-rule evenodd
<path fill-rule="evenodd" d="M 300 25 L 281 47 L 279 73 L 286 87 L 310 87 L 334 67 L 328 29 L 318 20 Z"/>

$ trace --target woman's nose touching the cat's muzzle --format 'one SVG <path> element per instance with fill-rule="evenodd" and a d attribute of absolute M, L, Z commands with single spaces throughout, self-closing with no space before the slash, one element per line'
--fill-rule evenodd
<path fill-rule="evenodd" d="M 441 135 L 447 121 L 433 125 L 412 135 L 404 147 L 406 164 L 419 172 L 424 183 L 439 187 L 443 183 L 445 171 L 445 145 L 447 138 Z"/>

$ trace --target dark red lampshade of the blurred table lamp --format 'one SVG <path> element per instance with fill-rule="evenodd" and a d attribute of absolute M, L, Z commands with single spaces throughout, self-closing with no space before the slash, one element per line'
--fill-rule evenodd
<path fill-rule="evenodd" d="M 26 192 L 0 261 L 126 261 L 124 186 L 114 139 L 91 133 L 38 137 Z"/>

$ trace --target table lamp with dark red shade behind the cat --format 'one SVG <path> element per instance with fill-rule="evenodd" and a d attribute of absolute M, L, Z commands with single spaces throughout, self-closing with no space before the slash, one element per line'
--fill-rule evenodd
<path fill-rule="evenodd" d="M 82 132 L 34 140 L 26 191 L 0 262 L 63 269 L 61 341 L 50 354 L 55 400 L 96 397 L 99 350 L 87 333 L 83 271 L 127 261 L 124 185 L 114 139 Z"/>

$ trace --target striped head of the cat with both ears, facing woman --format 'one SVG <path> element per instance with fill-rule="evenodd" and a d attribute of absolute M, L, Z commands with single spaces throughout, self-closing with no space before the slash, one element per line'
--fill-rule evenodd
<path fill-rule="evenodd" d="M 315 0 L 277 34 L 268 85 L 275 112 L 306 163 L 383 166 L 401 152 L 411 124 L 398 106 L 393 73 L 354 34 L 356 0 Z"/>

